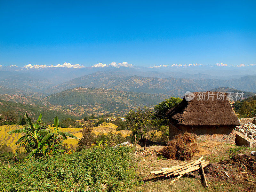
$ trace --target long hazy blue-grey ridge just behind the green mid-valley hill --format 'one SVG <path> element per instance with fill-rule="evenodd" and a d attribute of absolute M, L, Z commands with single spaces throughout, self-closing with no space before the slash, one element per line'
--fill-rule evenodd
<path fill-rule="evenodd" d="M 186 91 L 205 91 L 226 86 L 256 92 L 256 76 L 244 76 L 237 79 L 222 80 L 124 76 L 106 72 L 96 72 L 55 85 L 45 92 L 60 92 L 77 86 L 108 88 L 131 92 L 164 93 L 182 97 Z"/>

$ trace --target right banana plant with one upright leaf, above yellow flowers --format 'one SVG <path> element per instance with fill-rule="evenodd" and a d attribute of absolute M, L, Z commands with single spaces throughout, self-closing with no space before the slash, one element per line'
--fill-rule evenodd
<path fill-rule="evenodd" d="M 44 138 L 41 140 L 41 145 L 44 145 L 44 144 L 48 143 L 48 141 L 49 141 L 50 138 L 52 138 L 52 145 L 51 145 L 51 147 L 49 147 L 52 154 L 54 153 L 54 142 L 55 142 L 57 139 L 62 138 L 62 139 L 64 139 L 64 140 L 66 140 L 66 139 L 68 139 L 67 136 L 68 136 L 68 137 L 72 137 L 72 138 L 74 138 L 74 139 L 77 139 L 77 137 L 76 137 L 75 135 L 73 135 L 73 134 L 71 134 L 71 133 L 69 133 L 69 132 L 61 132 L 61 131 L 60 131 L 60 128 L 58 127 L 59 124 L 60 124 L 59 119 L 58 119 L 58 117 L 56 116 L 56 117 L 54 118 L 54 124 L 53 124 L 53 126 L 54 126 L 54 131 L 53 131 L 53 132 L 48 132 L 48 133 L 44 136 Z M 45 152 L 45 149 L 44 149 L 44 152 Z"/>

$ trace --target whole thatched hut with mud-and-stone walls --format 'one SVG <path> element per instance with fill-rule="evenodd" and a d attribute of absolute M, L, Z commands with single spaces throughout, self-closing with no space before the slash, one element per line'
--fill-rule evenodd
<path fill-rule="evenodd" d="M 235 127 L 240 123 L 226 94 L 221 100 L 220 92 L 204 92 L 204 99 L 199 97 L 202 92 L 193 94 L 194 99 L 184 97 L 166 112 L 169 138 L 187 131 L 195 133 L 198 140 L 236 144 Z"/>

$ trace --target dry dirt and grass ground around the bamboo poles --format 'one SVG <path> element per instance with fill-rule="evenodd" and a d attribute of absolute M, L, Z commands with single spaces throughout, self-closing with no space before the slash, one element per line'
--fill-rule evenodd
<path fill-rule="evenodd" d="M 205 142 L 198 143 L 203 144 Z M 194 172 L 195 178 L 181 177 L 173 184 L 170 182 L 174 178 L 164 179 L 161 175 L 155 176 L 149 174 L 149 171 L 159 171 L 161 168 L 167 168 L 185 162 L 162 157 L 159 152 L 161 152 L 164 147 L 165 146 L 148 146 L 145 148 L 145 143 L 136 146 L 134 163 L 137 165 L 136 170 L 140 175 L 140 185 L 133 188 L 132 191 L 256 192 L 256 174 L 254 171 L 245 170 L 243 165 L 241 165 L 241 167 L 237 167 L 232 165 L 232 162 L 228 162 L 232 154 L 249 155 L 251 151 L 256 150 L 255 148 L 238 147 L 223 143 L 214 147 L 200 146 L 200 148 L 203 148 L 205 151 L 210 151 L 209 154 L 203 155 L 205 161 L 210 161 L 210 165 L 205 168 L 206 179 L 209 187 L 205 188 L 201 172 L 199 171 Z M 195 156 L 187 162 L 196 160 L 199 157 L 200 156 Z M 222 171 L 220 175 L 216 170 L 225 170 L 229 177 L 225 175 L 223 176 Z"/>

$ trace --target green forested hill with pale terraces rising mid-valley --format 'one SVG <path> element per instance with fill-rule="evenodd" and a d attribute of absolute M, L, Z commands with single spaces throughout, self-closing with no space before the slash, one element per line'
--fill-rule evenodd
<path fill-rule="evenodd" d="M 150 94 L 137 92 L 124 92 L 102 88 L 77 87 L 59 93 L 54 93 L 46 98 L 52 105 L 89 105 L 108 102 L 122 103 L 126 106 L 156 105 L 170 98 L 166 94 Z"/>

